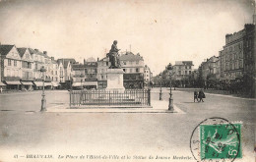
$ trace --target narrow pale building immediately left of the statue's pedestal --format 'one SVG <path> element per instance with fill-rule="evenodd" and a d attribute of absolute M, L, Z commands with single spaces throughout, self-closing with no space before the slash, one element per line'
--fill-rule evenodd
<path fill-rule="evenodd" d="M 108 57 L 97 60 L 97 85 L 98 88 L 105 88 L 107 86 L 107 69 L 110 67 Z"/>

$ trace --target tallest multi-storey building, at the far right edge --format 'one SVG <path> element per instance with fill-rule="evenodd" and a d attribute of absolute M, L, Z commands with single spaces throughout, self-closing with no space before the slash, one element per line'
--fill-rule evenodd
<path fill-rule="evenodd" d="M 256 76 L 255 57 L 255 25 L 244 25 L 238 32 L 225 35 L 224 49 L 220 51 L 221 78 L 232 82 L 249 74 Z M 252 81 L 251 95 L 255 96 L 255 79 Z"/>

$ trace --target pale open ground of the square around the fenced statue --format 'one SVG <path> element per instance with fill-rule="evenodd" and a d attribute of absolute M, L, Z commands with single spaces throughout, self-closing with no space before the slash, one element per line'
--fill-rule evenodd
<path fill-rule="evenodd" d="M 152 102 L 159 100 L 159 92 L 159 88 L 152 89 Z M 206 94 L 204 103 L 194 103 L 192 91 L 175 90 L 174 104 L 184 113 L 40 113 L 40 94 L 0 94 L 0 161 L 45 161 L 22 157 L 27 154 L 52 154 L 53 159 L 46 161 L 76 161 L 58 159 L 58 155 L 189 156 L 190 160 L 156 161 L 195 161 L 190 136 L 200 122 L 211 117 L 241 121 L 244 156 L 240 161 L 254 160 L 255 99 Z M 167 102 L 166 88 L 162 97 Z M 68 104 L 68 91 L 46 91 L 46 99 L 48 109 Z M 112 160 L 123 161 L 87 161 Z"/>

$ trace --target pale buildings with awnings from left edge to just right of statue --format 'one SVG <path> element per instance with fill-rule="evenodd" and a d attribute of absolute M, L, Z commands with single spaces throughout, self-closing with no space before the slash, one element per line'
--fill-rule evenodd
<path fill-rule="evenodd" d="M 152 73 L 140 54 L 123 53 L 120 61 L 126 88 L 142 88 L 150 84 Z M 1 88 L 40 89 L 43 79 L 46 88 L 104 88 L 109 66 L 108 58 L 90 58 L 80 64 L 72 58 L 55 60 L 46 51 L 0 44 Z M 44 74 L 42 67 L 46 69 Z"/>

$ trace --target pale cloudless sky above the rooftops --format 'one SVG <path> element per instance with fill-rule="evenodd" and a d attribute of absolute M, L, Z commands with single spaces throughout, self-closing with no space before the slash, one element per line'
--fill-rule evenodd
<path fill-rule="evenodd" d="M 0 42 L 57 58 L 103 58 L 113 40 L 154 75 L 218 56 L 224 35 L 252 23 L 252 0 L 0 0 Z M 131 47 L 131 48 L 130 48 Z"/>

